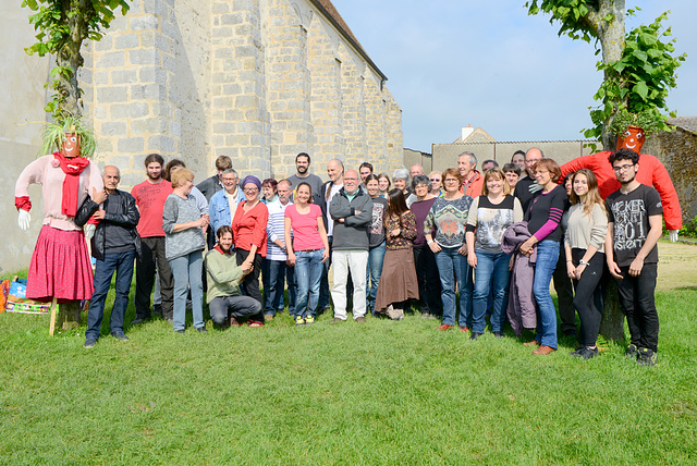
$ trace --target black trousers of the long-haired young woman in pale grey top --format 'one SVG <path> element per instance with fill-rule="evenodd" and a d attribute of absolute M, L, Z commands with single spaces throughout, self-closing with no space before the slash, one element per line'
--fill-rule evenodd
<path fill-rule="evenodd" d="M 583 259 L 584 254 L 586 249 L 572 249 L 574 267 L 578 267 L 578 261 Z M 580 274 L 580 280 L 574 279 L 574 308 L 578 311 L 580 319 L 578 343 L 584 346 L 595 346 L 602 320 L 603 290 L 600 286 L 600 279 L 602 279 L 606 255 L 596 253 L 588 263 L 589 266 Z"/>

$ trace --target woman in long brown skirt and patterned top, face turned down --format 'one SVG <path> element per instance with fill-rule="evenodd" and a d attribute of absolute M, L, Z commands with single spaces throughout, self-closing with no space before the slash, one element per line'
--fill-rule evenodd
<path fill-rule="evenodd" d="M 404 318 L 409 298 L 418 299 L 418 282 L 414 268 L 412 242 L 416 237 L 416 218 L 406 208 L 402 189 L 388 193 L 388 213 L 384 216 L 387 252 L 378 284 L 376 309 L 386 309 L 392 320 Z"/>

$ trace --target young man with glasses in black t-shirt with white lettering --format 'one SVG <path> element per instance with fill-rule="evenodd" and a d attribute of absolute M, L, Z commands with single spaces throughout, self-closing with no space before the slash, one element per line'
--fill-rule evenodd
<path fill-rule="evenodd" d="M 658 311 L 653 299 L 658 269 L 656 243 L 662 233 L 663 207 L 658 192 L 635 180 L 638 154 L 620 149 L 610 163 L 622 187 L 608 196 L 606 258 L 617 280 L 620 303 L 627 316 L 631 344 L 626 354 L 645 366 L 656 364 Z"/>

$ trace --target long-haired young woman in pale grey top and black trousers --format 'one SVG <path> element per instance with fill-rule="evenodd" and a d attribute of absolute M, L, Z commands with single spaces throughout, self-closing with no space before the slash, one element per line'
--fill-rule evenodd
<path fill-rule="evenodd" d="M 590 170 L 580 169 L 574 173 L 572 186 L 564 246 L 566 270 L 576 291 L 574 307 L 580 319 L 580 346 L 571 355 L 590 359 L 598 355 L 596 340 L 602 318 L 602 290 L 599 284 L 606 261 L 608 212 L 598 191 L 598 179 Z"/>

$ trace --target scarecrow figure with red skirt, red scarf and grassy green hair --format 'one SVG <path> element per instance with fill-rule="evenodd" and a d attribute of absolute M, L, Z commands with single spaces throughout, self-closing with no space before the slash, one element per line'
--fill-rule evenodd
<path fill-rule="evenodd" d="M 32 255 L 26 296 L 58 303 L 89 299 L 94 280 L 85 235 L 94 224 L 77 226 L 74 217 L 87 195 L 103 203 L 103 183 L 99 168 L 88 159 L 95 150 L 94 135 L 80 120 L 66 116 L 62 124 L 49 124 L 39 154 L 48 154 L 29 163 L 14 186 L 19 225 L 30 223 L 28 187 L 40 184 L 44 198 L 44 225 Z M 51 154 L 52 150 L 56 150 Z"/>

